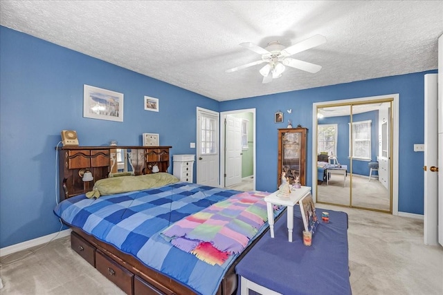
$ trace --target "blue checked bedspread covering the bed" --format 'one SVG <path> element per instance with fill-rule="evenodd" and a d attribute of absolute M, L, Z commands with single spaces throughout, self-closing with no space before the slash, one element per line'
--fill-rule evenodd
<path fill-rule="evenodd" d="M 209 265 L 173 247 L 159 232 L 237 193 L 241 192 L 178 182 L 98 199 L 75 196 L 60 202 L 54 212 L 67 224 L 136 256 L 148 267 L 178 280 L 198 294 L 215 294 L 239 254 L 230 256 L 223 265 Z M 267 226 L 266 222 L 257 236 Z"/>

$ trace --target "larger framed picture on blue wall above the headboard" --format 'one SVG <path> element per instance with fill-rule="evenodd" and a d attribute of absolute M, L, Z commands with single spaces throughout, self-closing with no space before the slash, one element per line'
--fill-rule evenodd
<path fill-rule="evenodd" d="M 123 93 L 84 84 L 83 117 L 123 122 Z"/>

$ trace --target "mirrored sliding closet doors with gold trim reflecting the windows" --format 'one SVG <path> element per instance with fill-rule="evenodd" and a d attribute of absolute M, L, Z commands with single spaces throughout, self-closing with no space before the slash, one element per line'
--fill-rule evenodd
<path fill-rule="evenodd" d="M 313 105 L 316 202 L 398 214 L 398 100 L 382 95 Z"/>

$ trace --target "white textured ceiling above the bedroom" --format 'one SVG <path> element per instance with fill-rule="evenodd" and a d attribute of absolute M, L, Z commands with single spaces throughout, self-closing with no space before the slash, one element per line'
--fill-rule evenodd
<path fill-rule="evenodd" d="M 2 26 L 26 32 L 219 101 L 437 68 L 443 1 L 0 1 Z M 239 46 L 327 43 L 293 55 L 262 84 L 260 60 Z"/>

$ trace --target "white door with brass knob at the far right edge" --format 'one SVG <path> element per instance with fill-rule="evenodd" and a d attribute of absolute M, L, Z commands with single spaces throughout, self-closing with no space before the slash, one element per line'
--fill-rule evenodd
<path fill-rule="evenodd" d="M 437 74 L 424 75 L 424 244 L 437 245 Z"/>

